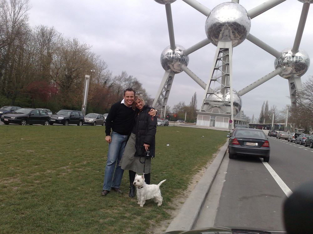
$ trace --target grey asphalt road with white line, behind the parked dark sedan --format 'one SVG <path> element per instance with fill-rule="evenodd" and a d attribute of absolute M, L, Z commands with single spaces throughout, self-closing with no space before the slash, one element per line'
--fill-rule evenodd
<path fill-rule="evenodd" d="M 269 163 L 225 155 L 196 228 L 224 226 L 284 231 L 287 196 L 313 178 L 313 149 L 269 138 Z"/>

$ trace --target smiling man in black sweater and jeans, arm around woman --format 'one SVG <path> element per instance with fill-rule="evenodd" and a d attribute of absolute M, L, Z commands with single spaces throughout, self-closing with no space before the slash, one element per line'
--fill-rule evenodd
<path fill-rule="evenodd" d="M 117 193 L 123 193 L 120 190 L 121 180 L 124 170 L 119 163 L 124 153 L 128 135 L 131 132 L 135 111 L 132 105 L 135 100 L 135 90 L 124 90 L 124 99 L 111 106 L 108 116 L 105 120 L 105 140 L 109 143 L 108 159 L 105 166 L 102 196 L 107 195 L 111 189 Z M 156 110 L 151 109 L 151 116 L 156 115 Z M 111 132 L 112 129 L 112 132 Z"/>

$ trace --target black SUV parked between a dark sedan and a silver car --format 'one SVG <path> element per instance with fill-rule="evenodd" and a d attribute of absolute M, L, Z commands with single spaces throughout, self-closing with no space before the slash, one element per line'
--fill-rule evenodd
<path fill-rule="evenodd" d="M 84 115 L 79 110 L 59 110 L 58 113 L 50 116 L 49 124 L 77 124 L 81 126 L 84 124 Z"/>

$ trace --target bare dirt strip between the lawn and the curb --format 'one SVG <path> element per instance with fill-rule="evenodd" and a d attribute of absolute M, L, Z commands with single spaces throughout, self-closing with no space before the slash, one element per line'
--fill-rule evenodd
<path fill-rule="evenodd" d="M 219 150 L 218 150 L 219 152 Z M 215 157 L 217 156 L 218 152 L 216 154 L 212 155 L 212 159 L 207 163 L 207 165 L 201 170 L 199 170 L 195 175 L 193 175 L 193 178 L 196 179 L 198 182 L 201 177 L 204 175 L 210 164 L 213 162 Z M 162 234 L 166 231 L 167 227 L 170 225 L 172 220 L 179 214 L 182 205 L 186 202 L 187 198 L 189 197 L 192 190 L 196 187 L 197 184 L 189 184 L 186 191 L 184 191 L 182 194 L 177 195 L 175 198 L 175 201 L 170 203 L 169 205 L 171 207 L 174 207 L 174 210 L 168 210 L 167 212 L 170 213 L 171 219 L 163 220 L 161 223 L 159 223 L 156 227 L 150 228 L 147 230 L 147 233 L 153 233 L 153 234 Z"/>

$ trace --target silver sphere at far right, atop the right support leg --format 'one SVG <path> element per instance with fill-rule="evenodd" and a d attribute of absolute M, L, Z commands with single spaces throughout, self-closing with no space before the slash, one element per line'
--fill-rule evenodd
<path fill-rule="evenodd" d="M 301 77 L 305 74 L 310 66 L 310 58 L 308 54 L 299 49 L 294 53 L 291 48 L 286 48 L 282 52 L 281 58 L 276 58 L 274 62 L 275 69 L 281 68 L 280 76 L 285 79 Z"/>

